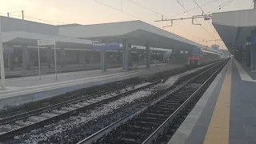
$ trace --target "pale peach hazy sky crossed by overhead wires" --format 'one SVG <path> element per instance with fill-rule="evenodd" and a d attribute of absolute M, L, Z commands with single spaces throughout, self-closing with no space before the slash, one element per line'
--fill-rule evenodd
<path fill-rule="evenodd" d="M 99 2 L 105 3 L 106 5 L 113 6 L 118 10 L 123 10 L 126 13 L 132 14 L 140 18 L 144 22 L 148 22 L 151 25 L 162 26 L 170 25 L 170 22 L 154 22 L 155 20 L 161 19 L 161 14 L 164 18 L 171 18 L 176 14 L 180 14 L 185 10 L 182 9 L 177 0 L 98 0 Z M 135 5 L 133 2 L 137 2 L 142 6 L 146 6 L 151 10 L 146 10 L 142 6 Z M 212 2 L 214 0 L 195 0 L 199 6 Z M 202 10 L 208 13 L 210 10 L 222 5 L 222 3 L 228 0 L 215 0 L 215 2 L 209 5 L 202 6 Z M 229 10 L 244 10 L 250 9 L 253 0 L 234 0 L 229 5 L 223 7 L 220 11 Z M 179 0 L 183 6 L 187 9 L 193 9 L 196 6 L 194 0 Z M 64 23 L 79 23 L 79 24 L 92 24 L 92 23 L 103 23 L 103 22 L 120 22 L 136 20 L 128 14 L 124 14 L 118 10 L 114 10 L 108 6 L 104 6 L 94 0 L 0 0 L 0 15 L 6 15 L 7 12 L 21 11 L 24 10 L 25 18 L 36 22 L 44 22 L 49 24 L 63 24 Z M 21 13 L 10 13 L 10 17 L 21 18 Z M 190 14 L 202 14 L 200 9 L 191 10 Z M 31 18 L 33 17 L 33 18 Z M 174 18 L 185 18 L 190 17 L 189 14 L 181 14 Z M 38 20 L 38 19 L 42 20 Z M 50 21 L 57 22 L 50 22 Z M 192 41 L 199 42 L 203 39 L 212 40 L 219 39 L 218 34 L 214 33 L 214 30 L 210 26 L 209 22 L 203 19 L 198 19 L 198 22 L 210 32 L 208 34 L 206 30 L 203 30 L 201 26 L 194 26 L 191 24 L 191 20 L 174 21 L 174 26 L 165 28 L 171 33 L 178 34 L 184 38 L 188 38 Z M 211 23 L 211 21 L 210 21 Z M 204 45 L 211 45 L 215 42 L 199 42 Z M 223 46 L 222 42 L 217 42 Z"/>

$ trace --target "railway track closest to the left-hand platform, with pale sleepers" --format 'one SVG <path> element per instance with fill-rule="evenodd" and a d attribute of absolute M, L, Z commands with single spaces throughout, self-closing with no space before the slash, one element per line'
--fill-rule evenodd
<path fill-rule="evenodd" d="M 31 110 L 8 118 L 2 118 L 0 119 L 0 141 L 46 126 L 52 122 L 68 118 L 72 115 L 78 114 L 79 112 L 90 110 L 95 106 L 125 97 L 139 90 L 149 88 L 150 86 L 155 86 L 159 82 L 162 82 L 162 80 L 169 78 L 174 74 L 166 74 L 164 78 L 161 78 L 158 75 L 157 78 L 153 78 L 154 82 L 144 82 L 136 86 L 128 86 L 121 90 L 107 90 L 99 94 L 92 94 L 82 98 L 74 98 L 70 101 L 46 106 L 38 110 Z"/>

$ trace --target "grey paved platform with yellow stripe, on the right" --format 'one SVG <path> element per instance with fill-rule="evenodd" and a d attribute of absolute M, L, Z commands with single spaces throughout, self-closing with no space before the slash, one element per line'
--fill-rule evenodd
<path fill-rule="evenodd" d="M 230 59 L 168 144 L 255 144 L 255 82 Z"/>

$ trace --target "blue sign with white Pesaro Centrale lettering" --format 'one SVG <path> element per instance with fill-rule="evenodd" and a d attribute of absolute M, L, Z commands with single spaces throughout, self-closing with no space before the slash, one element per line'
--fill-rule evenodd
<path fill-rule="evenodd" d="M 119 50 L 120 48 L 120 43 L 117 42 L 93 43 L 93 50 Z"/>

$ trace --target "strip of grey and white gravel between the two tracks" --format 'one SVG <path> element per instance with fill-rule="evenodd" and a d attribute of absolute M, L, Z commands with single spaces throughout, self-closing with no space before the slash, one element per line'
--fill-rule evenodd
<path fill-rule="evenodd" d="M 140 90 L 114 102 L 97 106 L 78 116 L 44 126 L 30 133 L 15 136 L 5 143 L 74 143 L 101 130 L 104 126 L 117 121 L 147 104 L 147 97 L 154 94 L 154 88 Z"/>

